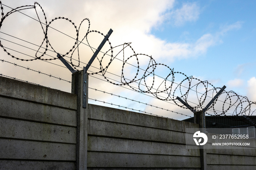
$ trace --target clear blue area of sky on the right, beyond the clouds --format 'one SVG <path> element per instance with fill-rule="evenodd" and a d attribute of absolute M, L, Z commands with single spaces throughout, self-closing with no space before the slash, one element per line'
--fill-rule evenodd
<path fill-rule="evenodd" d="M 177 43 L 195 43 L 203 35 L 215 37 L 202 54 L 177 58 L 171 63 L 172 67 L 208 81 L 218 80 L 219 86 L 240 80 L 238 84 L 233 81 L 234 87 L 230 90 L 235 88 L 246 95 L 246 82 L 255 76 L 255 5 L 255 1 L 177 1 L 170 12 L 174 14 L 169 14 L 170 18 L 150 33 Z M 183 16 L 183 20 L 180 17 L 181 21 L 177 21 L 177 10 L 188 6 L 195 16 L 187 19 Z"/>

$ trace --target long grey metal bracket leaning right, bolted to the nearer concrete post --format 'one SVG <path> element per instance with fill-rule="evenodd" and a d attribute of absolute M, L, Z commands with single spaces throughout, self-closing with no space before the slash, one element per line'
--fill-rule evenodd
<path fill-rule="evenodd" d="M 86 99 L 87 99 L 87 84 L 88 82 L 86 82 L 86 77 L 87 77 L 87 70 L 89 69 L 89 67 L 91 66 L 91 64 L 93 63 L 94 59 L 97 57 L 97 55 L 99 54 L 99 51 L 101 51 L 103 45 L 106 43 L 106 41 L 108 40 L 109 36 L 112 34 L 113 30 L 110 29 L 108 34 L 105 36 L 105 38 L 102 40 L 101 44 L 99 45 L 99 47 L 97 48 L 97 50 L 95 51 L 95 53 L 93 54 L 93 57 L 91 57 L 90 61 L 88 62 L 88 64 L 86 65 L 86 67 L 83 67 L 83 108 L 86 108 Z"/>

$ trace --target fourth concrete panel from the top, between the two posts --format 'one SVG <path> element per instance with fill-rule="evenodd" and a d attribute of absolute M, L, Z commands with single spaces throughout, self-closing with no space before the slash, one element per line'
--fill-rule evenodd
<path fill-rule="evenodd" d="M 87 167 L 198 168 L 200 157 L 88 152 Z"/>

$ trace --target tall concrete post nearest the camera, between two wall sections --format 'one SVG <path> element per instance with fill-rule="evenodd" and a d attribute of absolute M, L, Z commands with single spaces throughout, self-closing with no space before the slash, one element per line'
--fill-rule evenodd
<path fill-rule="evenodd" d="M 76 169 L 87 169 L 87 123 L 88 123 L 88 95 L 86 95 L 87 107 L 83 108 L 83 82 L 86 81 L 88 92 L 88 74 L 83 80 L 83 70 L 72 74 L 71 92 L 77 94 L 77 143 L 76 143 Z"/>

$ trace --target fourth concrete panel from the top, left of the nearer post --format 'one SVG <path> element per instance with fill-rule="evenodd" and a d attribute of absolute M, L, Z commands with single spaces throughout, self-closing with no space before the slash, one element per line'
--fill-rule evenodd
<path fill-rule="evenodd" d="M 0 139 L 0 159 L 76 161 L 76 145 Z"/>

